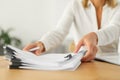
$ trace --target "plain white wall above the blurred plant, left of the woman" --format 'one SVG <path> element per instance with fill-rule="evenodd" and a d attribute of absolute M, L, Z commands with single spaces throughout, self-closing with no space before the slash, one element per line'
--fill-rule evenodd
<path fill-rule="evenodd" d="M 52 30 L 70 0 L 0 0 L 0 27 L 13 27 L 23 45 Z"/>

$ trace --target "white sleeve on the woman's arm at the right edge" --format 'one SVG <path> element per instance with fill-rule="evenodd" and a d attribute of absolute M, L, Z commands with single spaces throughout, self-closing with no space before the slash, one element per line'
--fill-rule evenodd
<path fill-rule="evenodd" d="M 117 8 L 109 24 L 105 28 L 96 32 L 98 36 L 98 45 L 104 46 L 117 40 L 120 36 L 120 7 Z"/>

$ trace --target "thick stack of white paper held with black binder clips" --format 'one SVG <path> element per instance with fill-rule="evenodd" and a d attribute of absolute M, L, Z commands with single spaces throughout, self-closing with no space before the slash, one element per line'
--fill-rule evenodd
<path fill-rule="evenodd" d="M 7 46 L 7 55 L 10 56 L 10 68 L 24 68 L 37 70 L 76 70 L 81 64 L 83 53 L 50 53 L 36 56 L 31 52 L 22 51 L 12 46 Z M 65 56 L 71 54 L 71 58 Z"/>

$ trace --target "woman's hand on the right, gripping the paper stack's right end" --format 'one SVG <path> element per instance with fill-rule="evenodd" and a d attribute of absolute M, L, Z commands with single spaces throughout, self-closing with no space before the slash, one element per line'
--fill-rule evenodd
<path fill-rule="evenodd" d="M 87 35 L 85 35 L 77 44 L 75 48 L 75 53 L 79 51 L 81 46 L 86 46 L 87 47 L 87 52 L 82 58 L 82 61 L 91 61 L 95 58 L 95 55 L 97 53 L 97 42 L 98 42 L 98 37 L 96 33 L 91 32 Z"/>

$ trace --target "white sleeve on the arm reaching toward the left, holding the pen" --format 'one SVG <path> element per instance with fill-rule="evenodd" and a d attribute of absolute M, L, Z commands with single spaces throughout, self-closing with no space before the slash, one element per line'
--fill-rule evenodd
<path fill-rule="evenodd" d="M 72 21 L 73 21 L 73 2 L 71 2 L 64 11 L 62 18 L 60 19 L 57 27 L 46 33 L 39 41 L 43 42 L 46 51 L 56 47 L 69 33 Z"/>

